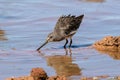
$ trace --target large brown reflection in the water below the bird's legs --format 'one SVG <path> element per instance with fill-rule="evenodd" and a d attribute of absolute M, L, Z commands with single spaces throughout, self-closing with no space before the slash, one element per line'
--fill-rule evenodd
<path fill-rule="evenodd" d="M 74 76 L 81 75 L 81 69 L 72 63 L 70 56 L 54 55 L 47 57 L 48 66 L 56 70 L 57 75 Z"/>

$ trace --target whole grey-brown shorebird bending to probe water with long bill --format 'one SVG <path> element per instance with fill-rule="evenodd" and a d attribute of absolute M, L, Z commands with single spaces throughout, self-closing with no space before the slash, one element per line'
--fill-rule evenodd
<path fill-rule="evenodd" d="M 45 43 L 42 44 L 37 51 L 39 51 L 44 45 L 46 45 L 48 42 L 58 42 L 58 41 L 62 41 L 62 40 L 66 40 L 66 43 L 64 44 L 64 48 L 66 49 L 66 45 L 68 43 L 68 39 L 70 39 L 70 44 L 69 44 L 69 48 L 71 47 L 72 44 L 72 36 L 77 32 L 82 19 L 83 19 L 84 15 L 80 15 L 80 16 L 75 16 L 75 15 L 67 15 L 67 16 L 61 16 L 56 25 L 55 28 L 53 30 L 53 32 L 51 32 Z"/>

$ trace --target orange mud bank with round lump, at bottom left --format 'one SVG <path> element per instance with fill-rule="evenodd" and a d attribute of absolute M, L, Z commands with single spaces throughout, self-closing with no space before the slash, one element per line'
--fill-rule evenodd
<path fill-rule="evenodd" d="M 47 73 L 42 68 L 33 68 L 29 76 L 8 78 L 6 80 L 67 80 L 67 78 L 64 76 L 48 77 Z"/>

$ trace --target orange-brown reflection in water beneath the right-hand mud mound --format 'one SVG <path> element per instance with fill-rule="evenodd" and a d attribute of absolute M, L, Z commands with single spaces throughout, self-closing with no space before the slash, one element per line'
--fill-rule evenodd
<path fill-rule="evenodd" d="M 100 53 L 109 55 L 113 59 L 120 60 L 120 51 L 100 51 L 100 50 L 98 50 L 98 51 Z"/>

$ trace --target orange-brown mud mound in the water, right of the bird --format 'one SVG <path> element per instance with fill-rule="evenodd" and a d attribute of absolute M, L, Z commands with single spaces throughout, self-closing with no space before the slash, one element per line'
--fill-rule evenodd
<path fill-rule="evenodd" d="M 120 52 L 120 36 L 107 36 L 93 44 L 93 47 L 102 51 Z"/>

